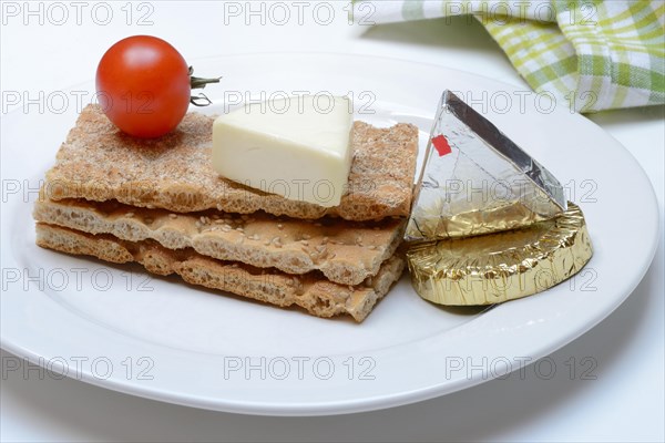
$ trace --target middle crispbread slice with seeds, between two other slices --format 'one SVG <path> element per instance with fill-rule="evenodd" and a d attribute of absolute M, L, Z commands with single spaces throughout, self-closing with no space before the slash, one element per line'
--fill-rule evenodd
<path fill-rule="evenodd" d="M 320 270 L 342 285 L 358 285 L 376 275 L 397 249 L 406 223 L 403 218 L 298 220 L 263 212 L 174 214 L 117 202 L 54 202 L 43 193 L 41 197 L 33 212 L 38 222 L 130 241 L 153 239 L 168 249 L 191 247 L 204 256 L 288 274 Z"/>

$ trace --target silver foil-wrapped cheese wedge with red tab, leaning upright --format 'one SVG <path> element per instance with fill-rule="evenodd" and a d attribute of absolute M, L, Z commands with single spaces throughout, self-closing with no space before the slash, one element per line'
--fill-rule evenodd
<path fill-rule="evenodd" d="M 565 208 L 563 187 L 548 169 L 452 92 L 443 92 L 407 240 L 514 229 Z"/>

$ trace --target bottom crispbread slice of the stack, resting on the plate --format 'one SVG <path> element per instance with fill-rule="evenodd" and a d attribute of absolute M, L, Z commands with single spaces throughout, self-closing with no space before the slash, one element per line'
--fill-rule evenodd
<path fill-rule="evenodd" d="M 319 272 L 294 276 L 275 269 L 216 260 L 193 249 L 172 250 L 156 241 L 125 241 L 111 235 L 91 235 L 69 228 L 37 224 L 39 246 L 75 255 L 89 255 L 112 262 L 137 261 L 150 272 L 180 275 L 185 281 L 277 305 L 299 306 L 318 317 L 350 315 L 362 321 L 375 303 L 400 277 L 405 260 L 395 255 L 375 277 L 361 285 L 345 286 Z"/>

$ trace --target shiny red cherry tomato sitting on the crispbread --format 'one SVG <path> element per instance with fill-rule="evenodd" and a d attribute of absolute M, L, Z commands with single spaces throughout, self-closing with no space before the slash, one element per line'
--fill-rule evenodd
<path fill-rule="evenodd" d="M 109 120 L 123 132 L 158 137 L 185 116 L 192 93 L 190 75 L 185 59 L 164 40 L 129 37 L 102 56 L 96 71 L 98 99 Z M 206 82 L 214 81 L 218 79 Z"/>

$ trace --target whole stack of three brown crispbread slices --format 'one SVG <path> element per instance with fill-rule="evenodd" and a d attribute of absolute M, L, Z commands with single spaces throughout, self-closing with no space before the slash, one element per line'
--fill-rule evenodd
<path fill-rule="evenodd" d="M 38 245 L 362 321 L 405 267 L 417 128 L 356 122 L 349 190 L 325 208 L 221 177 L 213 120 L 191 113 L 172 134 L 137 140 L 85 107 L 35 204 Z"/>

